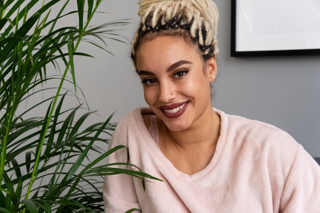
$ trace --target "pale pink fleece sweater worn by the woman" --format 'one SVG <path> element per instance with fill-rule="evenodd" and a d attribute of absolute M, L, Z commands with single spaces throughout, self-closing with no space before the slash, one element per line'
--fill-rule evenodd
<path fill-rule="evenodd" d="M 206 168 L 187 175 L 159 150 L 141 109 L 119 123 L 109 148 L 127 146 L 131 163 L 164 182 L 146 182 L 144 191 L 138 178 L 107 176 L 105 212 L 320 212 L 320 167 L 283 130 L 214 109 L 221 117 L 215 154 Z M 126 150 L 120 150 L 108 163 L 126 160 Z"/>

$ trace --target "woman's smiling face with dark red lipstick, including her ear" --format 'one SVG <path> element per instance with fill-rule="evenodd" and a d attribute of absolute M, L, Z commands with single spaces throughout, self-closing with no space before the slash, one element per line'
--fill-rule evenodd
<path fill-rule="evenodd" d="M 136 67 L 151 110 L 171 131 L 196 128 L 211 109 L 216 60 L 203 60 L 182 38 L 160 36 L 140 45 Z M 203 72 L 205 69 L 205 72 Z"/>

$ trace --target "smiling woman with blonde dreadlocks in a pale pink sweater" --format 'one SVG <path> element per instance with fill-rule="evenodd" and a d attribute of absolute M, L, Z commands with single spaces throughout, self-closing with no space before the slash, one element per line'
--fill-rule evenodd
<path fill-rule="evenodd" d="M 131 58 L 149 108 L 110 148 L 164 182 L 107 176 L 105 212 L 320 212 L 320 169 L 286 132 L 212 108 L 218 12 L 211 0 L 140 1 Z M 108 162 L 126 162 L 125 150 Z"/>

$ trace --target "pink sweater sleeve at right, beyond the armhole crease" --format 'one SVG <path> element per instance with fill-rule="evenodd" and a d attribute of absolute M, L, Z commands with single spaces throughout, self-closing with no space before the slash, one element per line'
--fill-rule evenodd
<path fill-rule="evenodd" d="M 280 212 L 320 212 L 320 167 L 301 145 L 284 187 Z"/>

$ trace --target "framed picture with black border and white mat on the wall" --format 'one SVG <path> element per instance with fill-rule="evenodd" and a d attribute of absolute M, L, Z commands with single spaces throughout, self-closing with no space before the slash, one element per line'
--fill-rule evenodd
<path fill-rule="evenodd" d="M 231 1 L 231 56 L 320 54 L 319 0 Z"/>

